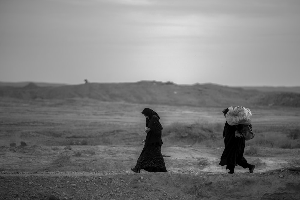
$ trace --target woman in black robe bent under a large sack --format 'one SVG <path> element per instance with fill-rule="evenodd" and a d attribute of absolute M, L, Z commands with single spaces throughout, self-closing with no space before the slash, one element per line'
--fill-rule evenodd
<path fill-rule="evenodd" d="M 224 116 L 228 112 L 228 108 L 223 110 Z M 249 168 L 249 172 L 252 173 L 255 165 L 251 165 L 244 158 L 244 149 L 245 149 L 245 138 L 241 133 L 235 132 L 240 130 L 243 125 L 239 124 L 236 126 L 230 126 L 227 121 L 223 130 L 223 137 L 225 143 L 225 149 L 221 156 L 221 161 L 219 165 L 226 165 L 226 169 L 229 169 L 229 174 L 234 173 L 234 168 L 236 165 L 243 167 L 244 169 Z M 252 125 L 249 127 L 252 129 Z"/>

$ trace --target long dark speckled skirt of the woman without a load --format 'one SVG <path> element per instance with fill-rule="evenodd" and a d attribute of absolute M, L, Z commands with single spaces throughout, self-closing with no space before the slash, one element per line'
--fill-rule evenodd
<path fill-rule="evenodd" d="M 161 146 L 145 144 L 135 169 L 148 172 L 167 172 Z"/>

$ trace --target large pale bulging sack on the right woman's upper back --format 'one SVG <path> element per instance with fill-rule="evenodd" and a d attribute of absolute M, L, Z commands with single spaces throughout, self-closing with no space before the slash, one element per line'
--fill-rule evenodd
<path fill-rule="evenodd" d="M 228 112 L 225 115 L 226 121 L 230 126 L 238 125 L 238 124 L 251 124 L 251 111 L 248 108 L 244 108 L 243 106 L 237 106 L 232 108 L 228 108 Z"/>

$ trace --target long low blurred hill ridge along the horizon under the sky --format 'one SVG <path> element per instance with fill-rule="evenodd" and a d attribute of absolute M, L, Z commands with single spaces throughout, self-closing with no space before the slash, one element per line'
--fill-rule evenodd
<path fill-rule="evenodd" d="M 293 106 L 299 107 L 300 94 L 265 92 L 215 84 L 177 85 L 173 82 L 88 83 L 41 87 L 1 86 L 0 97 L 19 99 L 91 98 L 101 101 L 157 103 L 187 106 Z"/>

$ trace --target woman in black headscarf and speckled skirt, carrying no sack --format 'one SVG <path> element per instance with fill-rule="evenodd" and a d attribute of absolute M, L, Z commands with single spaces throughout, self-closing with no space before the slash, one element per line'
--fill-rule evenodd
<path fill-rule="evenodd" d="M 159 120 L 159 115 L 150 108 L 143 110 L 143 115 L 146 117 L 146 128 L 147 133 L 145 145 L 137 159 L 137 165 L 131 168 L 132 171 L 140 173 L 141 169 L 148 172 L 167 172 L 164 157 L 161 154 L 161 130 L 163 127 Z"/>

